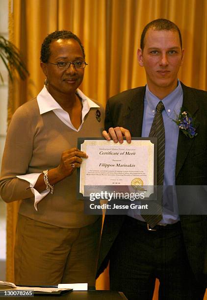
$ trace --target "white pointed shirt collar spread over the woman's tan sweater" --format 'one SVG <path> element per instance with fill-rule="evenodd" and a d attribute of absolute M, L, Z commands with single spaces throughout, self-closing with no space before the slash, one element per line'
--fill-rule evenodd
<path fill-rule="evenodd" d="M 78 96 L 82 100 L 83 110 L 90 110 L 92 107 L 100 107 L 98 104 L 96 104 L 94 101 L 89 99 L 87 96 L 83 94 L 79 89 L 77 89 Z M 54 109 L 61 109 L 64 110 L 57 101 L 54 100 L 52 95 L 48 92 L 46 87 L 44 86 L 42 91 L 37 95 L 37 103 L 39 106 L 40 114 L 44 114 L 48 111 L 54 110 Z"/>

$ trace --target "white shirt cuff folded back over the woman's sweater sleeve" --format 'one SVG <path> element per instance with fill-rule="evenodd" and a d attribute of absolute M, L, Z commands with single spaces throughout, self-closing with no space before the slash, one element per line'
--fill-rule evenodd
<path fill-rule="evenodd" d="M 34 186 L 37 182 L 37 179 L 39 175 L 42 173 L 32 173 L 32 174 L 26 174 L 26 175 L 19 175 L 17 176 L 20 179 L 26 180 L 29 182 L 29 186 L 31 188 L 32 193 L 34 194 L 34 208 L 37 209 L 37 204 L 50 193 L 50 190 L 44 190 L 41 193 L 39 193 L 37 190 L 34 189 Z"/>

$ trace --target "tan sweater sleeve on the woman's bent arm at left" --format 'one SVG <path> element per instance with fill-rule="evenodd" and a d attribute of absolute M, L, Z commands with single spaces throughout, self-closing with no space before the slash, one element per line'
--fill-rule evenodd
<path fill-rule="evenodd" d="M 8 128 L 0 176 L 0 196 L 5 202 L 34 197 L 29 182 L 17 177 L 29 173 L 34 138 L 31 118 L 23 105 L 14 113 Z"/>

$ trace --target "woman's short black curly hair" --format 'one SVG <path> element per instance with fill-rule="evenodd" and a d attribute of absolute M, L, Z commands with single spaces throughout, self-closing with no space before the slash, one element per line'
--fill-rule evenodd
<path fill-rule="evenodd" d="M 41 52 L 40 52 L 40 60 L 42 62 L 44 62 L 44 63 L 48 62 L 50 55 L 51 55 L 50 44 L 52 43 L 52 41 L 56 41 L 59 39 L 63 39 L 63 40 L 74 39 L 74 40 L 76 40 L 78 42 L 78 44 L 80 45 L 80 48 L 82 49 L 82 52 L 83 52 L 83 57 L 85 58 L 85 52 L 84 52 L 83 45 L 76 34 L 74 34 L 71 31 L 68 31 L 68 30 L 56 30 L 56 31 L 50 33 L 48 36 L 46 36 L 46 38 L 44 39 L 44 41 L 42 43 Z"/>

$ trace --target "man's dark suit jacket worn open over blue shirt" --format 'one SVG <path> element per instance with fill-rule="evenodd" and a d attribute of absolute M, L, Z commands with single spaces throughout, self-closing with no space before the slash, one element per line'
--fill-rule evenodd
<path fill-rule="evenodd" d="M 182 106 L 191 116 L 196 116 L 198 135 L 190 139 L 183 132 L 179 133 L 176 185 L 207 185 L 207 92 L 183 84 L 182 89 Z M 110 98 L 106 104 L 105 129 L 122 126 L 129 129 L 132 137 L 140 137 L 144 96 L 145 87 L 138 87 Z M 181 215 L 180 218 L 185 247 L 194 274 L 198 280 L 207 283 L 207 275 L 204 275 L 207 274 L 207 215 Z M 120 215 L 105 216 L 97 277 L 110 260 L 109 250 L 124 219 L 125 216 Z"/>

